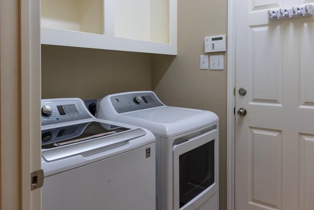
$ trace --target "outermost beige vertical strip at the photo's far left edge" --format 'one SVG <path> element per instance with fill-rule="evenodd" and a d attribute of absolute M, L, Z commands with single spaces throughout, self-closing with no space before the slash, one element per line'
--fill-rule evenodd
<path fill-rule="evenodd" d="M 20 209 L 19 1 L 0 0 L 1 209 Z"/>

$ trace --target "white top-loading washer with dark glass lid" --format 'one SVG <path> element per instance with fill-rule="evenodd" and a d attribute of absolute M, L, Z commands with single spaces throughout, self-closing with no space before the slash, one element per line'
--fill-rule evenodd
<path fill-rule="evenodd" d="M 155 136 L 93 117 L 79 98 L 42 100 L 43 210 L 155 210 Z"/>

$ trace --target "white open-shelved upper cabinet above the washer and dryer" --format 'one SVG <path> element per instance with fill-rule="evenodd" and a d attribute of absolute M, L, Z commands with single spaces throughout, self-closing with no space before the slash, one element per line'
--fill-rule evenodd
<path fill-rule="evenodd" d="M 41 43 L 177 55 L 177 0 L 41 0 Z"/>

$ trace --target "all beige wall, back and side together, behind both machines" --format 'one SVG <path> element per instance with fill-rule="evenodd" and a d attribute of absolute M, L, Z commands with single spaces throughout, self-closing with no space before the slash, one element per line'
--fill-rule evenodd
<path fill-rule="evenodd" d="M 227 0 L 178 0 L 178 56 L 42 46 L 42 97 L 102 98 L 154 90 L 167 105 L 220 118 L 220 210 L 226 210 L 227 54 L 204 53 L 204 37 L 227 34 Z M 225 55 L 224 70 L 200 70 L 200 55 Z"/>

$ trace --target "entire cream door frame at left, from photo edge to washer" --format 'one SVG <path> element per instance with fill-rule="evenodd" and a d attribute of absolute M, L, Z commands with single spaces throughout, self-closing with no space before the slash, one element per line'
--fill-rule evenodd
<path fill-rule="evenodd" d="M 40 0 L 0 0 L 0 209 L 41 208 L 30 190 L 41 167 L 39 13 Z"/>

